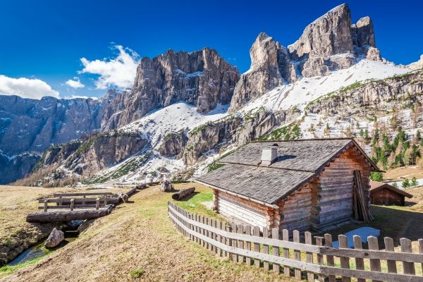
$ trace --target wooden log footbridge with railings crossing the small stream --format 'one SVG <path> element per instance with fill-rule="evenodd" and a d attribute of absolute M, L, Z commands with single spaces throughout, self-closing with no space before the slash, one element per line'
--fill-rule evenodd
<path fill-rule="evenodd" d="M 56 193 L 53 197 L 39 199 L 41 212 L 27 215 L 28 222 L 71 221 L 75 219 L 96 219 L 106 216 L 116 204 L 126 202 L 137 188 L 125 193 L 112 192 L 73 192 Z"/>

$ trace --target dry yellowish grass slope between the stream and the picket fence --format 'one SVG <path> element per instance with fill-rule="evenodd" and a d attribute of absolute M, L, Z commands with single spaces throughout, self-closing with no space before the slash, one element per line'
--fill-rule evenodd
<path fill-rule="evenodd" d="M 158 187 L 131 200 L 94 221 L 75 242 L 0 281 L 288 281 L 184 238 L 168 219 L 170 194 Z"/>

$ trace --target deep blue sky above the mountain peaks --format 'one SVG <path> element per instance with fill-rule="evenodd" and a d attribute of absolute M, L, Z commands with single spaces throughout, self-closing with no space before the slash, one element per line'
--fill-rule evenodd
<path fill-rule="evenodd" d="M 286 46 L 300 37 L 308 23 L 344 2 L 0 0 L 0 86 L 2 82 L 8 89 L 24 85 L 22 92 L 34 87 L 35 97 L 43 92 L 101 97 L 109 85 L 128 85 L 125 80 L 131 70 L 120 67 L 137 62 L 134 52 L 154 57 L 167 49 L 203 47 L 216 49 L 242 73 L 250 66 L 249 50 L 259 32 Z M 372 18 L 376 45 L 384 58 L 403 64 L 419 59 L 422 3 L 347 3 L 353 22 L 362 16 Z M 115 69 L 120 71 L 117 78 Z M 102 81 L 95 72 L 104 73 Z M 66 85 L 68 80 L 80 87 Z"/>

